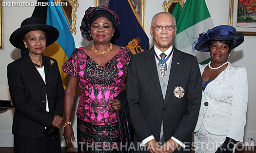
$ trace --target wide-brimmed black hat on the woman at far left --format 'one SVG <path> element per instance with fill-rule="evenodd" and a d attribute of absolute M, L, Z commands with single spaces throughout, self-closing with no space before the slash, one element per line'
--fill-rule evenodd
<path fill-rule="evenodd" d="M 59 38 L 59 31 L 55 27 L 44 24 L 40 18 L 31 17 L 24 19 L 20 28 L 12 33 L 10 36 L 11 44 L 16 48 L 27 50 L 24 45 L 23 38 L 28 32 L 34 30 L 41 30 L 45 32 L 46 46 L 54 43 Z"/>

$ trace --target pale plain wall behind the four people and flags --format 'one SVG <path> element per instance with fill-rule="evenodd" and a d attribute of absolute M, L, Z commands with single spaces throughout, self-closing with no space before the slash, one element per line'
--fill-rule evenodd
<path fill-rule="evenodd" d="M 24 2 L 31 0 L 3 0 L 3 2 Z M 36 0 L 33 0 L 36 1 Z M 149 27 L 151 25 L 152 17 L 163 11 L 161 6 L 164 0 L 145 0 L 145 31 L 150 39 L 152 46 L 153 40 L 150 37 Z M 168 1 L 168 0 L 167 0 Z M 228 12 L 229 12 L 229 0 L 205 0 L 214 24 L 228 24 Z M 76 47 L 85 46 L 88 44 L 84 42 L 80 36 L 79 25 L 84 15 L 84 11 L 89 6 L 94 6 L 94 0 L 79 0 L 79 8 L 77 11 L 77 29 L 75 38 Z M 31 16 L 34 7 L 3 7 L 3 23 L 4 23 L 4 49 L 0 50 L 0 99 L 10 99 L 9 89 L 6 77 L 6 66 L 8 63 L 20 58 L 20 50 L 14 48 L 9 42 L 10 34 L 20 27 L 20 23 L 23 19 Z M 232 55 L 229 57 L 229 61 L 235 65 L 244 66 L 247 69 L 248 81 L 249 81 L 249 103 L 247 111 L 247 124 L 245 128 L 245 140 L 247 137 L 256 136 L 256 70 L 254 58 L 256 57 L 256 37 L 246 36 L 245 41 L 239 47 L 234 49 Z M 79 97 L 78 97 L 79 98 Z M 13 136 L 11 134 L 12 118 L 14 109 L 0 112 L 0 146 L 12 146 Z M 74 116 L 75 119 L 75 116 Z M 76 129 L 76 122 L 74 121 L 74 130 Z M 75 130 L 76 132 L 76 130 Z M 64 145 L 64 141 L 62 141 Z"/>

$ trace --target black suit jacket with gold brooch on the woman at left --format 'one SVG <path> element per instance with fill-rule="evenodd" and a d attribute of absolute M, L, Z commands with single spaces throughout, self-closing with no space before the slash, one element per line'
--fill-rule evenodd
<path fill-rule="evenodd" d="M 43 56 L 45 82 L 30 57 L 15 60 L 7 66 L 10 95 L 16 109 L 12 133 L 43 138 L 44 127 L 52 124 L 54 115 L 62 116 L 64 89 L 55 59 Z M 50 60 L 54 63 L 50 63 Z M 49 112 L 46 112 L 46 94 Z"/>

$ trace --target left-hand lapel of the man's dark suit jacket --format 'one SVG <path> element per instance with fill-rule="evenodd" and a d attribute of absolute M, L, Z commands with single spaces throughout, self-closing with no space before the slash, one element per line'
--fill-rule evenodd
<path fill-rule="evenodd" d="M 158 69 L 156 65 L 154 46 L 149 50 L 148 54 L 144 58 L 145 58 L 145 63 L 146 63 L 149 75 L 151 76 L 152 81 L 157 88 L 158 94 L 163 99 L 162 90 L 161 90 L 160 82 L 158 78 Z"/>

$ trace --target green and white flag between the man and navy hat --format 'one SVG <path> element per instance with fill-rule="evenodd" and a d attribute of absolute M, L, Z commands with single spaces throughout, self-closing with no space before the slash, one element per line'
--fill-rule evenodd
<path fill-rule="evenodd" d="M 214 27 L 213 20 L 204 0 L 186 0 L 184 7 L 175 5 L 172 12 L 176 19 L 177 35 L 174 45 L 177 49 L 197 57 L 198 63 L 208 63 L 208 52 L 193 52 L 193 42 L 202 32 Z"/>

